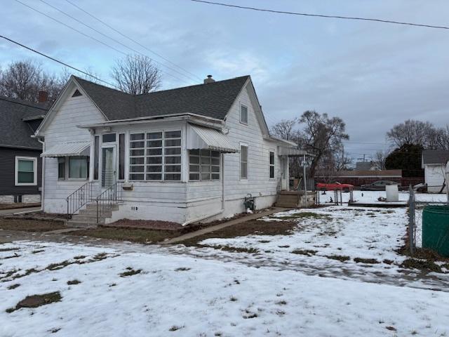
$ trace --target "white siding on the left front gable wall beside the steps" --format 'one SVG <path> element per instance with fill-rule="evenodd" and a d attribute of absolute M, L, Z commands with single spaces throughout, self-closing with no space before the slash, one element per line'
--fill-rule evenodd
<path fill-rule="evenodd" d="M 91 140 L 88 130 L 77 128 L 82 124 L 93 124 L 105 121 L 105 117 L 86 96 L 70 97 L 55 112 L 50 124 L 44 130 L 45 147 L 51 148 L 65 142 Z M 65 213 L 65 198 L 87 180 L 58 180 L 58 159 L 45 160 L 44 211 Z"/>

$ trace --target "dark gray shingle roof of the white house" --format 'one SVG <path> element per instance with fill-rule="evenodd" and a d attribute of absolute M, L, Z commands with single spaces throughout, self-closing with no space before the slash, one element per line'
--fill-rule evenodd
<path fill-rule="evenodd" d="M 130 95 L 74 77 L 109 120 L 166 114 L 200 114 L 225 119 L 249 76 L 143 95 Z"/>

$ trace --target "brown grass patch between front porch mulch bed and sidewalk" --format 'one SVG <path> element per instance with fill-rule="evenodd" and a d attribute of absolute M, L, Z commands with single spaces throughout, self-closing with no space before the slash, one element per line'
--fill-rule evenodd
<path fill-rule="evenodd" d="M 151 244 L 162 242 L 165 239 L 178 237 L 181 235 L 181 232 L 175 230 L 142 230 L 139 228 L 98 227 L 87 230 L 76 230 L 74 232 L 69 232 L 69 234 L 81 237 L 98 237 L 101 239 Z"/>

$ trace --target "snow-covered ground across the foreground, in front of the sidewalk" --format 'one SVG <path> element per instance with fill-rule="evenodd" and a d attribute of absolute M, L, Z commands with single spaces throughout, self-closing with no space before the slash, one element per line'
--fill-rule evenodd
<path fill-rule="evenodd" d="M 342 244 L 349 242 L 342 239 Z M 50 242 L 15 242 L 0 248 L 17 249 L 0 252 L 2 337 L 449 333 L 449 293 L 443 291 L 117 248 Z M 357 256 L 360 249 L 351 246 Z M 376 258 L 391 258 L 391 253 L 380 256 L 380 250 L 376 251 Z M 93 258 L 99 253 L 107 253 L 106 258 Z M 51 263 L 62 263 L 62 267 L 45 269 Z M 119 276 L 127 267 L 141 272 Z M 13 279 L 31 268 L 29 275 Z M 73 279 L 81 283 L 67 285 Z M 13 284 L 20 286 L 8 289 Z M 5 311 L 27 295 L 53 291 L 60 291 L 60 302 Z"/>

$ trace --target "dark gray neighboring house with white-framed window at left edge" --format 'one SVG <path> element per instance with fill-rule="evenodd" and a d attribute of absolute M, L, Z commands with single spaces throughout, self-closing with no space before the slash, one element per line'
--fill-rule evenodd
<path fill-rule="evenodd" d="M 31 136 L 47 110 L 0 96 L 0 204 L 41 201 L 42 144 Z"/>

